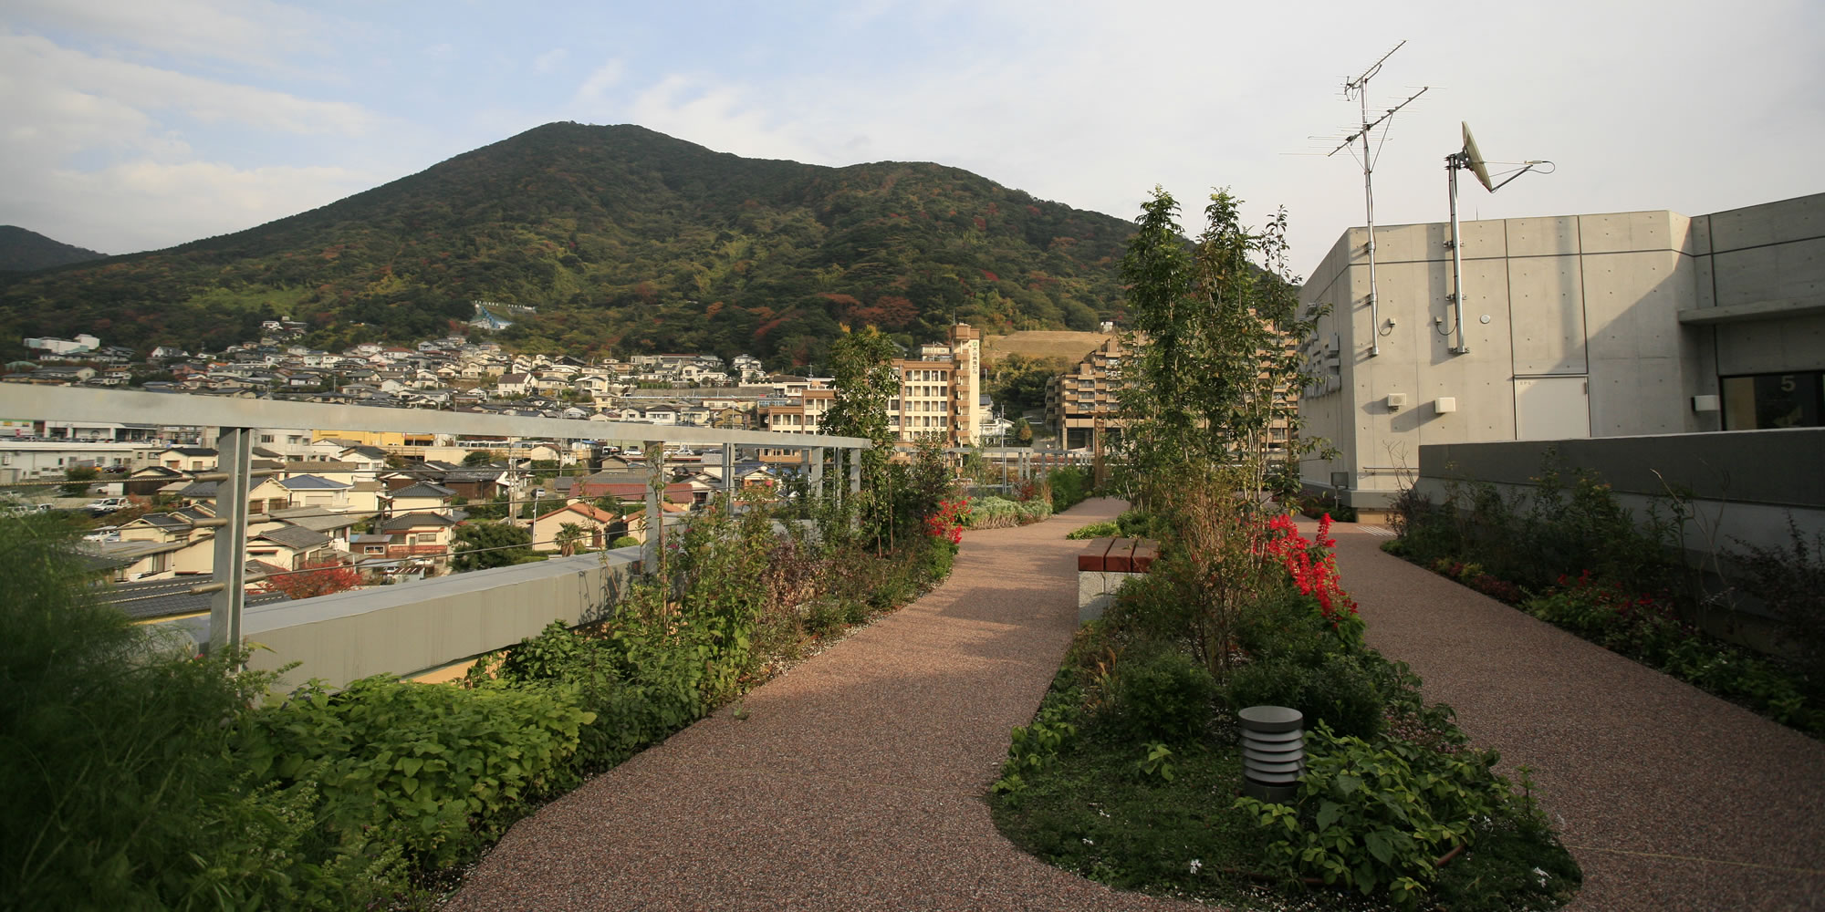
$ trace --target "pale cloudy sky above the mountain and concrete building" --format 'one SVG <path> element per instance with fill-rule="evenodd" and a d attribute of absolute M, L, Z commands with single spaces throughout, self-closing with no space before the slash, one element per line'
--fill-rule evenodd
<path fill-rule="evenodd" d="M 1825 4 L 1741 0 L 518 4 L 7 0 L 0 224 L 128 254 L 237 232 L 553 120 L 641 124 L 816 164 L 936 161 L 1190 233 L 1214 188 L 1290 219 L 1309 274 L 1363 224 L 1447 217 L 1460 120 L 1493 162 L 1549 159 L 1464 217 L 1825 190 Z M 1312 139 L 1312 137 L 1330 137 Z M 1504 166 L 1495 164 L 1500 171 Z"/>

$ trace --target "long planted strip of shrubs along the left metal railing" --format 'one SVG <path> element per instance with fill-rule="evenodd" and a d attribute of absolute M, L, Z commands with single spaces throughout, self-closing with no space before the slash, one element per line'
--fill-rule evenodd
<path fill-rule="evenodd" d="M 0 907 L 429 908 L 513 821 L 940 582 L 938 449 L 878 472 L 725 500 L 451 684 L 195 657 L 95 598 L 69 525 L 0 518 Z"/>

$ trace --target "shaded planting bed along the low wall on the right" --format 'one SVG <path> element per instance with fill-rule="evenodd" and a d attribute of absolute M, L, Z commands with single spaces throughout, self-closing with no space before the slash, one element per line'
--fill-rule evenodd
<path fill-rule="evenodd" d="M 1677 491 L 1635 516 L 1601 478 L 1549 456 L 1528 491 L 1451 483 L 1436 503 L 1405 491 L 1394 520 L 1391 554 L 1825 737 L 1825 538 L 1792 518 L 1785 545 L 1710 542 L 1694 558 Z M 1759 649 L 1743 646 L 1745 609 L 1772 620 Z"/>

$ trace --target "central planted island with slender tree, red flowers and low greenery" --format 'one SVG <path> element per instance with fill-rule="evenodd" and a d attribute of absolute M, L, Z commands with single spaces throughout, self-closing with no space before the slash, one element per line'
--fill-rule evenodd
<path fill-rule="evenodd" d="M 1330 554 L 1287 514 L 1307 379 L 1285 217 L 1243 228 L 1215 193 L 1186 248 L 1177 202 L 1142 206 L 1122 277 L 1152 339 L 1122 390 L 1115 487 L 1137 505 L 1082 536 L 1161 542 L 1086 624 L 1011 733 L 991 806 L 1035 855 L 1117 888 L 1237 908 L 1553 908 L 1582 876 L 1526 770 L 1496 772 L 1449 706 L 1363 644 Z M 1294 445 L 1270 447 L 1290 427 Z M 1298 710 L 1285 801 L 1245 793 L 1239 713 Z"/>

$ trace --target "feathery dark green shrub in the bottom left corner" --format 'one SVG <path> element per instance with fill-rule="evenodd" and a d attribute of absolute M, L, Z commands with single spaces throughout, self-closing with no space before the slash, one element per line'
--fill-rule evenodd
<path fill-rule="evenodd" d="M 73 538 L 0 518 L 0 908 L 360 908 L 403 886 L 396 850 L 332 845 L 312 790 L 254 790 L 230 755 L 272 675 L 97 602 Z"/>

